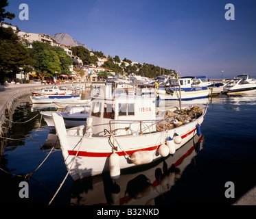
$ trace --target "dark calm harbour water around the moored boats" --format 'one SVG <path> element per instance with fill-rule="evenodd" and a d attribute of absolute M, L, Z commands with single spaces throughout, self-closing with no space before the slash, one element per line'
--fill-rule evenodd
<path fill-rule="evenodd" d="M 256 185 L 256 96 L 216 96 L 208 101 L 202 136 L 178 149 L 173 156 L 152 165 L 121 172 L 113 182 L 108 174 L 73 181 L 67 177 L 52 205 L 231 205 Z M 198 102 L 198 101 L 195 101 Z M 165 105 L 172 105 L 166 102 Z M 38 107 L 24 97 L 13 119 L 22 122 L 36 116 Z M 54 110 L 51 106 L 48 109 Z M 40 129 L 38 129 L 40 125 Z M 30 123 L 13 124 L 8 146 L 1 149 L 0 203 L 47 205 L 67 174 L 54 133 L 40 116 Z M 21 177 L 26 179 L 29 198 L 20 198 Z M 225 183 L 235 185 L 235 198 L 226 198 Z"/>

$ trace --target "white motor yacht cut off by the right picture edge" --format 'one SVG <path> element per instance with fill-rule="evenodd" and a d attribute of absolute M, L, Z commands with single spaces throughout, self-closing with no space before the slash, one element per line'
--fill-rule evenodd
<path fill-rule="evenodd" d="M 224 94 L 237 95 L 256 92 L 256 79 L 250 78 L 249 75 L 237 75 L 234 79 L 229 80 L 223 86 Z"/>

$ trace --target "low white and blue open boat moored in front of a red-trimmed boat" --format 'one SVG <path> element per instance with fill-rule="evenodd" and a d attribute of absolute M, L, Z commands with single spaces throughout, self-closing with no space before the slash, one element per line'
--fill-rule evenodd
<path fill-rule="evenodd" d="M 81 95 L 40 95 L 30 96 L 32 103 L 53 103 L 56 100 L 73 102 L 81 99 Z"/>

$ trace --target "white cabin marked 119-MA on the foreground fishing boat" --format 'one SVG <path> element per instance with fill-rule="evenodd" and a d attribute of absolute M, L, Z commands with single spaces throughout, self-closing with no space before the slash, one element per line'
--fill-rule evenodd
<path fill-rule="evenodd" d="M 100 90 L 92 90 L 97 96 L 91 103 L 93 136 L 104 136 L 104 129 L 118 136 L 156 131 L 155 92 L 143 94 L 145 88 L 136 89 L 101 85 Z"/>

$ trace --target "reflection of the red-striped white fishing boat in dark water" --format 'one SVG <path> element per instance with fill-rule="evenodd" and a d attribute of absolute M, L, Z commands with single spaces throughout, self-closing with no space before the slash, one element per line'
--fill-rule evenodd
<path fill-rule="evenodd" d="M 171 190 L 183 171 L 204 148 L 204 136 L 151 164 L 121 171 L 117 180 L 109 172 L 73 182 L 71 205 L 154 205 L 154 198 Z M 129 171 L 129 172 L 128 172 Z M 131 172 L 132 171 L 132 172 Z"/>

